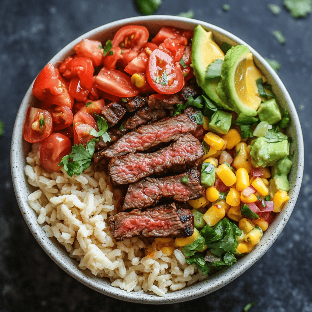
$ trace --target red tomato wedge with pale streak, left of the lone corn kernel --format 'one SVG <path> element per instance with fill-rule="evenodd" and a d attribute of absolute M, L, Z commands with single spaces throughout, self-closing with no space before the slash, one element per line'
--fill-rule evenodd
<path fill-rule="evenodd" d="M 103 67 L 95 78 L 95 86 L 119 97 L 135 96 L 139 89 L 131 83 L 131 78 L 116 69 Z"/>

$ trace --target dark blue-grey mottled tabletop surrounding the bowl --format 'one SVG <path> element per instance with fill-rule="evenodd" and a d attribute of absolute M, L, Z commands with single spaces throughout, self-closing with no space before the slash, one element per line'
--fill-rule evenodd
<path fill-rule="evenodd" d="M 229 11 L 222 10 L 230 4 Z M 278 16 L 269 3 L 282 8 Z M 107 22 L 140 15 L 132 1 L 1 0 L 0 2 L 0 312 L 8 311 L 312 311 L 311 115 L 312 16 L 293 19 L 282 0 L 163 0 L 158 14 L 193 9 L 195 18 L 240 37 L 281 64 L 278 74 L 298 111 L 305 173 L 295 210 L 271 249 L 230 284 L 205 297 L 164 306 L 131 304 L 101 295 L 62 271 L 41 249 L 17 205 L 10 173 L 14 120 L 26 90 L 67 43 Z M 281 45 L 272 35 L 280 29 Z"/>

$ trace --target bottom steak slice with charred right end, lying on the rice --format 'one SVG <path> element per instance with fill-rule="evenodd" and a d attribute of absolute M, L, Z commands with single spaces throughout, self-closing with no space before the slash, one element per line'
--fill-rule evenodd
<path fill-rule="evenodd" d="M 110 230 L 117 241 L 137 235 L 188 237 L 194 232 L 194 216 L 189 209 L 174 209 L 170 205 L 145 211 L 134 209 L 111 216 Z"/>

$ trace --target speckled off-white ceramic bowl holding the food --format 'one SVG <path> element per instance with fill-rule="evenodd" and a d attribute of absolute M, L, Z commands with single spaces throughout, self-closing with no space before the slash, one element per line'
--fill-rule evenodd
<path fill-rule="evenodd" d="M 184 17 L 176 16 L 144 16 L 144 17 L 131 17 L 101 27 L 95 28 L 90 32 L 85 33 L 79 38 L 75 39 L 67 46 L 65 46 L 60 52 L 58 52 L 49 62 L 54 65 L 58 61 L 64 60 L 67 56 L 74 54 L 73 46 L 81 41 L 83 38 L 98 39 L 101 42 L 106 42 L 108 39 L 114 37 L 115 32 L 125 25 L 143 25 L 149 29 L 152 35 L 155 35 L 162 26 L 173 26 L 178 28 L 184 28 L 193 30 L 197 24 L 201 24 L 207 30 L 213 32 L 215 41 L 221 44 L 223 41 L 231 44 L 242 44 L 248 46 L 253 53 L 254 61 L 259 69 L 267 77 L 268 83 L 272 85 L 272 89 L 276 95 L 277 102 L 281 109 L 287 109 L 291 115 L 289 123 L 288 135 L 292 137 L 293 142 L 291 144 L 291 153 L 294 152 L 293 166 L 289 174 L 290 180 L 290 201 L 286 204 L 285 208 L 275 218 L 274 222 L 269 226 L 268 230 L 264 232 L 264 235 L 258 245 L 251 251 L 250 254 L 241 258 L 237 263 L 231 266 L 224 272 L 219 272 L 209 279 L 197 282 L 182 290 L 175 292 L 169 292 L 165 297 L 158 297 L 157 295 L 150 295 L 146 293 L 127 293 L 117 287 L 112 287 L 109 280 L 95 277 L 90 271 L 80 271 L 76 260 L 71 259 L 68 253 L 56 240 L 50 239 L 46 236 L 42 227 L 37 223 L 36 213 L 28 206 L 27 196 L 32 192 L 30 185 L 27 183 L 24 175 L 24 167 L 26 165 L 26 155 L 30 151 L 30 144 L 25 142 L 22 138 L 22 125 L 26 115 L 26 110 L 29 105 L 32 105 L 35 98 L 32 95 L 32 85 L 27 90 L 27 93 L 22 101 L 20 109 L 17 113 L 16 122 L 14 125 L 12 135 L 12 147 L 11 147 L 11 169 L 13 185 L 17 197 L 17 202 L 22 211 L 22 215 L 30 228 L 32 234 L 37 239 L 41 247 L 56 262 L 64 271 L 79 280 L 81 283 L 88 287 L 111 297 L 147 304 L 168 304 L 181 301 L 187 301 L 198 298 L 203 295 L 207 295 L 218 288 L 228 284 L 236 277 L 246 271 L 252 264 L 254 264 L 264 253 L 270 248 L 275 239 L 279 236 L 280 232 L 284 228 L 288 221 L 290 214 L 295 207 L 295 203 L 299 194 L 302 175 L 303 175 L 303 163 L 304 163 L 304 146 L 303 137 L 300 126 L 300 121 L 295 109 L 295 106 L 288 94 L 285 86 L 277 76 L 275 71 L 268 65 L 268 63 L 261 57 L 251 46 L 246 42 L 237 38 L 230 32 L 223 30 L 220 27 L 208 24 L 206 22 L 197 21 L 194 19 L 188 19 Z M 43 277 L 44 278 L 44 277 Z"/>

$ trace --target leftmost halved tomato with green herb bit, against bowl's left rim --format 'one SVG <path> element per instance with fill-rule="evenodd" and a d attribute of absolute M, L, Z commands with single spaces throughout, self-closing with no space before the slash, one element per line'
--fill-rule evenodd
<path fill-rule="evenodd" d="M 23 138 L 29 143 L 43 142 L 52 132 L 52 117 L 47 110 L 28 107 L 23 125 Z"/>

